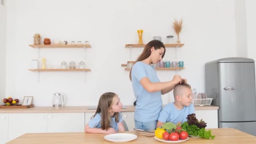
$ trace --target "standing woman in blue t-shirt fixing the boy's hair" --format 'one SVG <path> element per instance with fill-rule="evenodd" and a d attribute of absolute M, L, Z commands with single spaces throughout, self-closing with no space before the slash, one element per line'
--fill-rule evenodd
<path fill-rule="evenodd" d="M 172 91 L 177 83 L 181 83 L 182 78 L 179 75 L 174 75 L 172 80 L 162 83 L 158 79 L 151 64 L 157 64 L 164 55 L 163 43 L 152 40 L 131 69 L 130 80 L 137 99 L 134 113 L 135 128 L 155 130 L 163 104 L 161 95 Z"/>

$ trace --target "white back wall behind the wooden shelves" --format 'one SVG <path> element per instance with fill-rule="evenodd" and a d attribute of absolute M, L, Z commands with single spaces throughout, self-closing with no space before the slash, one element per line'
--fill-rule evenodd
<path fill-rule="evenodd" d="M 223 57 L 236 56 L 235 2 L 233 0 L 9 0 L 7 11 L 6 95 L 22 99 L 34 96 L 36 106 L 51 106 L 54 92 L 68 96 L 67 105 L 97 105 L 107 91 L 119 94 L 123 104 L 135 100 L 129 72 L 121 64 L 135 60 L 142 48 L 129 49 L 125 44 L 138 43 L 136 29 L 144 29 L 148 43 L 159 35 L 175 35 L 174 18 L 183 18 L 180 40 L 185 45 L 176 51 L 184 61 L 184 70 L 158 71 L 161 81 L 178 74 L 188 79 L 192 88 L 205 91 L 204 64 Z M 37 59 L 37 49 L 30 48 L 33 35 L 51 40 L 89 40 L 84 83 L 83 72 L 30 72 L 30 61 Z M 176 41 L 176 38 L 175 40 Z M 48 65 L 59 67 L 61 61 L 84 59 L 83 49 L 41 49 Z M 167 48 L 165 58 L 175 60 L 175 50 Z M 163 96 L 164 103 L 168 97 Z"/>

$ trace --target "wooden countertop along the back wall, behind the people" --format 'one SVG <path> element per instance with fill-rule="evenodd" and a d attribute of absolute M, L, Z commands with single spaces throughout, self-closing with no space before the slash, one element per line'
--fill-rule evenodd
<path fill-rule="evenodd" d="M 133 105 L 125 106 L 122 112 L 134 112 L 135 107 Z M 217 106 L 195 106 L 195 110 L 216 110 Z M 0 109 L 0 113 L 78 113 L 78 112 L 96 112 L 96 109 L 88 109 L 88 107 L 32 107 L 28 109 Z"/>

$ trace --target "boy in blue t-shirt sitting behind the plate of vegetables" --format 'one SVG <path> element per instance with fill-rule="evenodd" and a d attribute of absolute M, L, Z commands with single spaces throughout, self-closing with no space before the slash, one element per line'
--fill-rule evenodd
<path fill-rule="evenodd" d="M 158 117 L 157 127 L 165 122 L 174 124 L 184 123 L 189 114 L 195 113 L 195 107 L 192 104 L 191 86 L 182 81 L 181 84 L 175 85 L 173 89 L 175 102 L 165 105 L 160 116 Z"/>

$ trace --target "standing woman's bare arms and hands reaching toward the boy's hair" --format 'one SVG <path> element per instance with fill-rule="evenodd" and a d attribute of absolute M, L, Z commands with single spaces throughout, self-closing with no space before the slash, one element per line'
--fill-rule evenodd
<path fill-rule="evenodd" d="M 141 83 L 143 88 L 145 88 L 150 93 L 155 92 L 155 91 L 162 91 L 166 88 L 167 88 L 167 90 L 165 90 L 164 92 L 167 92 L 167 91 L 169 92 L 169 89 L 171 91 L 177 83 L 181 82 L 181 76 L 174 75 L 173 80 L 168 81 L 168 82 L 163 82 L 163 83 L 161 83 L 161 82 L 160 83 L 152 83 L 149 80 L 149 78 L 147 78 L 147 77 L 141 78 L 141 80 L 139 82 Z M 173 87 L 173 88 L 171 89 L 171 87 Z"/>

